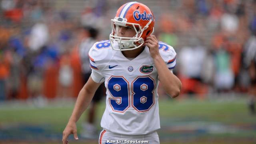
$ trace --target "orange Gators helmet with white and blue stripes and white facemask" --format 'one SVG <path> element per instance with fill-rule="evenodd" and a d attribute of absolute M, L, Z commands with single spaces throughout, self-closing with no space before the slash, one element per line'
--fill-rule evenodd
<path fill-rule="evenodd" d="M 110 44 L 114 50 L 134 50 L 140 48 L 146 37 L 154 32 L 153 12 L 140 2 L 128 2 L 122 5 L 116 12 L 116 16 L 111 20 L 112 32 L 110 34 Z M 136 35 L 133 37 L 121 37 L 117 35 L 116 26 L 133 27 Z M 118 48 L 114 48 L 114 42 L 118 43 Z"/>

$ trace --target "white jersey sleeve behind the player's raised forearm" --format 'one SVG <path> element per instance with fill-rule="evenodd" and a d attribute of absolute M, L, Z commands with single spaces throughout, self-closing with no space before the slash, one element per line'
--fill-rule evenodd
<path fill-rule="evenodd" d="M 172 71 L 176 66 L 176 52 L 174 48 L 164 42 L 159 42 L 159 46 L 160 54 L 166 63 L 166 66 Z"/>

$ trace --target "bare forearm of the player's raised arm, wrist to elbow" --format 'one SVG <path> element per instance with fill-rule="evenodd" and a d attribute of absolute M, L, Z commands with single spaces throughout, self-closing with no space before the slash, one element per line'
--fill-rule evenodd
<path fill-rule="evenodd" d="M 154 64 L 158 71 L 159 80 L 166 93 L 172 98 L 177 97 L 180 94 L 182 86 L 180 80 L 170 72 L 160 55 L 154 58 Z"/>

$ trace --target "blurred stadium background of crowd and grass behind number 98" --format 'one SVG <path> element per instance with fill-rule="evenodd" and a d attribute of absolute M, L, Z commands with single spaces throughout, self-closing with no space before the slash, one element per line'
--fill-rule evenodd
<path fill-rule="evenodd" d="M 0 0 L 0 143 L 60 143 L 82 88 L 83 26 L 108 39 L 110 19 L 125 2 Z M 174 46 L 174 73 L 183 84 L 174 100 L 159 88 L 161 143 L 255 143 L 256 116 L 248 109 L 255 89 L 245 53 L 250 44 L 256 48 L 256 1 L 138 2 L 154 12 L 154 34 Z M 104 98 L 99 105 L 100 130 Z M 77 126 L 79 132 L 81 120 Z"/>

